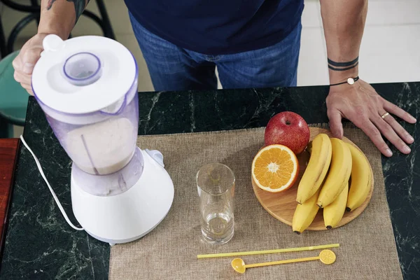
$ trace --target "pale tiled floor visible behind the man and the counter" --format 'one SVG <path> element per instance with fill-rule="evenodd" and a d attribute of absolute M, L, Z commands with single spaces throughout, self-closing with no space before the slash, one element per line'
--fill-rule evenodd
<path fill-rule="evenodd" d="M 29 0 L 14 0 L 28 3 Z M 123 0 L 104 0 L 117 40 L 132 51 L 139 64 L 139 91 L 151 91 L 153 85 L 146 63 L 130 25 Z M 87 6 L 97 13 L 94 0 Z M 367 22 L 360 48 L 359 76 L 370 83 L 420 80 L 420 0 L 370 0 Z M 24 13 L 0 6 L 6 36 Z M 302 16 L 302 42 L 297 85 L 328 84 L 328 68 L 323 37 L 320 4 L 305 0 Z M 19 49 L 36 32 L 35 23 L 25 28 L 15 49 Z M 101 29 L 92 20 L 82 17 L 73 36 L 100 35 Z M 220 87 L 220 85 L 219 85 Z"/>

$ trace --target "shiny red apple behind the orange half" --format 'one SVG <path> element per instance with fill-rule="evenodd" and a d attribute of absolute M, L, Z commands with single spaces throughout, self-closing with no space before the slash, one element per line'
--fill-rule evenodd
<path fill-rule="evenodd" d="M 281 144 L 296 155 L 302 153 L 309 142 L 307 122 L 293 112 L 281 112 L 272 117 L 265 128 L 265 145 Z"/>

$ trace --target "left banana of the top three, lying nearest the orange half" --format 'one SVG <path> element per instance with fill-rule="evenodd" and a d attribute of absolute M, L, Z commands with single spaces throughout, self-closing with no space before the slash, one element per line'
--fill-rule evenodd
<path fill-rule="evenodd" d="M 296 202 L 302 204 L 321 187 L 330 167 L 332 146 L 327 134 L 318 134 L 307 147 L 311 158 L 297 187 Z"/>

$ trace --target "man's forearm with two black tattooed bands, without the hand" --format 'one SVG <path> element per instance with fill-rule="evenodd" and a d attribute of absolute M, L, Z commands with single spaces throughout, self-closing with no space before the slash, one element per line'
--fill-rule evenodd
<path fill-rule="evenodd" d="M 367 0 L 320 0 L 330 83 L 358 75 Z"/>

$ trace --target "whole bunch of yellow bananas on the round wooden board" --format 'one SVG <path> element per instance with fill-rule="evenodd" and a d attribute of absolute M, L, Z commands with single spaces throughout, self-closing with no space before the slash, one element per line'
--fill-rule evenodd
<path fill-rule="evenodd" d="M 323 208 L 325 227 L 335 228 L 345 210 L 353 211 L 365 202 L 373 180 L 365 155 L 340 139 L 318 134 L 307 151 L 311 158 L 297 187 L 299 204 L 293 215 L 297 233 L 309 227 L 319 208 Z"/>

